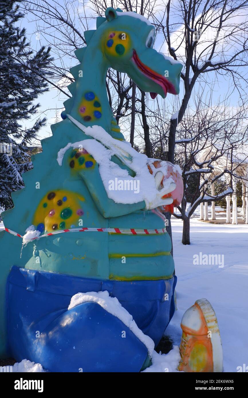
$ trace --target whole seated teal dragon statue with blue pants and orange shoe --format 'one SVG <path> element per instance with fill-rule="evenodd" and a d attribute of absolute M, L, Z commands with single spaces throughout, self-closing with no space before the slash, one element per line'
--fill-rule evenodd
<path fill-rule="evenodd" d="M 144 17 L 113 8 L 105 16 L 76 51 L 63 120 L 12 195 L 14 208 L 2 213 L 0 357 L 52 372 L 149 367 L 175 310 L 163 212 L 182 200 L 180 170 L 125 142 L 105 76 L 109 67 L 126 72 L 165 98 L 179 93 L 182 65 L 152 49 L 155 30 Z M 209 302 L 197 300 L 181 326 L 178 369 L 221 372 Z"/>

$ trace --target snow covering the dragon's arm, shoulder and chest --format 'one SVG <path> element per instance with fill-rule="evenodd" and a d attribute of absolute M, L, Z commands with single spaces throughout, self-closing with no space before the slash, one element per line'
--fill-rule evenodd
<path fill-rule="evenodd" d="M 86 149 L 99 164 L 99 172 L 105 187 L 105 191 L 110 199 L 113 199 L 115 203 L 138 203 L 143 200 L 146 203 L 153 203 L 156 200 L 156 195 L 158 194 L 158 189 L 156 188 L 156 183 L 154 179 L 155 174 L 150 174 L 147 164 L 149 159 L 145 154 L 141 154 L 132 148 L 130 142 L 118 141 L 113 139 L 101 126 L 85 127 L 82 123 L 76 121 L 70 115 L 68 117 L 72 122 L 78 126 L 84 133 L 92 138 L 86 139 L 79 142 L 71 143 L 69 142 L 64 148 L 61 148 L 58 152 L 57 162 L 62 165 L 63 157 L 70 147 L 71 148 L 84 148 Z M 121 162 L 126 164 L 135 172 L 135 177 L 128 174 L 127 170 L 123 170 L 118 164 L 111 161 L 111 157 L 116 155 Z M 158 172 L 154 168 L 154 171 Z M 167 174 L 167 164 L 166 162 L 161 163 L 161 168 L 159 171 L 166 176 Z M 175 168 L 175 172 L 178 168 Z M 115 181 L 117 178 L 120 185 L 125 186 L 125 181 L 131 181 L 130 184 L 133 187 L 139 186 L 139 190 L 117 190 L 109 189 L 110 181 Z M 123 182 L 121 182 L 123 181 Z M 173 184 L 173 185 L 172 185 Z M 126 183 L 127 185 L 127 183 Z M 174 181 L 172 176 L 163 181 L 165 192 L 170 193 L 175 189 Z M 162 195 L 161 195 L 162 196 Z"/>

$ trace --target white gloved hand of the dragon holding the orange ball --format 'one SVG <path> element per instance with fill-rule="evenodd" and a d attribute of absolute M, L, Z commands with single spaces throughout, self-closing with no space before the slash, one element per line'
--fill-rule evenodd
<path fill-rule="evenodd" d="M 172 204 L 172 202 L 173 202 L 172 198 L 162 199 L 162 196 L 174 191 L 174 189 L 176 189 L 176 184 L 174 182 L 172 182 L 172 183 L 170 183 L 170 185 L 168 187 L 164 188 L 161 185 L 163 178 L 164 178 L 164 174 L 162 172 L 156 173 L 155 184 L 156 184 L 157 194 L 156 194 L 155 199 L 151 202 L 149 202 L 147 199 L 144 199 L 145 204 L 146 204 L 145 210 L 152 210 L 159 206 L 166 206 L 166 205 Z"/>

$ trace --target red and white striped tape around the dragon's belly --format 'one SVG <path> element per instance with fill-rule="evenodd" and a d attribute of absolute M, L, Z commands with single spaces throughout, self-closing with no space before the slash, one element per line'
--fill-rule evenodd
<path fill-rule="evenodd" d="M 12 235 L 19 236 L 23 238 L 22 235 L 11 229 L 4 228 L 7 232 Z M 51 236 L 56 234 L 62 234 L 63 232 L 110 232 L 112 234 L 128 234 L 128 235 L 154 235 L 154 234 L 165 234 L 166 228 L 160 229 L 137 229 L 137 228 L 71 228 L 71 229 L 61 229 L 54 232 L 49 232 L 48 234 L 37 236 L 37 238 L 32 238 L 31 240 L 44 238 L 45 236 Z"/>

